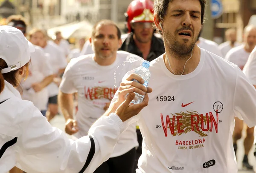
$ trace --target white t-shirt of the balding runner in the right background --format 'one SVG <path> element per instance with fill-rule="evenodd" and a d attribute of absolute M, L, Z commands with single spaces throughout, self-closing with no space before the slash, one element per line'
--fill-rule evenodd
<path fill-rule="evenodd" d="M 244 45 L 240 45 L 228 51 L 225 59 L 238 65 L 243 70 L 249 56 L 250 53 L 244 50 Z"/>

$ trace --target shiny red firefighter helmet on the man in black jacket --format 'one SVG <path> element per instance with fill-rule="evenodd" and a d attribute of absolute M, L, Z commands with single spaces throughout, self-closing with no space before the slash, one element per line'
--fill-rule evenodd
<path fill-rule="evenodd" d="M 154 22 L 154 3 L 152 0 L 133 0 L 125 16 L 129 32 L 131 32 L 131 23 Z"/>

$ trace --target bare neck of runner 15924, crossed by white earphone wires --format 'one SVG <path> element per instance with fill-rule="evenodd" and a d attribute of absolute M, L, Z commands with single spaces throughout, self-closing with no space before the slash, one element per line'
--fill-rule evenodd
<path fill-rule="evenodd" d="M 167 56 L 166 56 L 166 54 L 167 54 Z M 195 68 L 198 66 L 198 64 L 200 62 L 200 55 L 201 55 L 201 50 L 197 45 L 195 45 L 193 52 L 192 52 L 192 56 L 191 56 L 191 54 L 187 55 L 186 58 L 184 58 L 184 59 L 180 59 L 174 53 L 166 51 L 166 53 L 164 54 L 164 62 L 165 62 L 166 67 L 168 68 L 168 70 L 171 73 L 175 73 L 176 75 L 181 75 L 183 73 L 183 75 L 184 75 L 184 74 L 189 74 L 195 70 Z M 167 60 L 167 57 L 169 57 L 169 62 L 170 62 L 171 68 L 170 68 L 169 62 Z M 186 66 L 185 66 L 185 63 L 186 63 Z M 185 69 L 184 69 L 184 66 L 185 66 Z"/>

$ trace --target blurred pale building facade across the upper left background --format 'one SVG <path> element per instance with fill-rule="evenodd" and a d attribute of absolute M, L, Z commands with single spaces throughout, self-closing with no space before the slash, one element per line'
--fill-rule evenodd
<path fill-rule="evenodd" d="M 93 24 L 101 19 L 111 19 L 124 28 L 124 13 L 132 0 L 0 0 L 0 6 L 6 1 L 16 7 L 12 14 L 23 15 L 30 27 L 49 29 L 83 20 Z"/>

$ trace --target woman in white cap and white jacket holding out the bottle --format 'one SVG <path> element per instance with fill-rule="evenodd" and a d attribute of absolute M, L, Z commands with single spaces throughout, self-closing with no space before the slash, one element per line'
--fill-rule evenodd
<path fill-rule="evenodd" d="M 131 91 L 143 94 L 152 90 L 123 90 L 118 101 L 92 125 L 88 136 L 73 141 L 53 128 L 32 102 L 21 99 L 19 84 L 28 75 L 33 51 L 20 30 L 0 26 L 0 173 L 14 166 L 28 173 L 93 173 L 111 155 L 125 130 L 124 121 L 148 103 L 146 94 L 142 103 L 129 105 L 134 98 Z M 138 76 L 134 79 L 143 82 Z"/>

